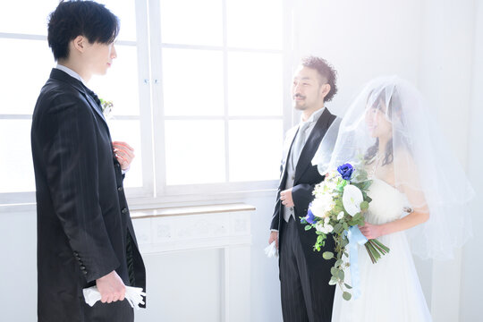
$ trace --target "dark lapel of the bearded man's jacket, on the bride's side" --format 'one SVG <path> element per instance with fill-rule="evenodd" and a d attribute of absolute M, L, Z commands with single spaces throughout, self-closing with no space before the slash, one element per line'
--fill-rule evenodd
<path fill-rule="evenodd" d="M 320 117 L 318 118 L 314 129 L 310 132 L 309 139 L 307 139 L 305 146 L 301 150 L 301 157 L 299 158 L 299 162 L 297 163 L 297 167 L 295 168 L 294 182 L 298 182 L 305 168 L 308 165 L 311 165 L 312 158 L 314 157 L 315 152 L 318 149 L 318 145 L 326 134 L 326 131 L 330 126 L 331 120 L 333 118 L 333 115 L 330 114 L 327 109 L 325 109 L 322 115 L 320 115 Z"/>

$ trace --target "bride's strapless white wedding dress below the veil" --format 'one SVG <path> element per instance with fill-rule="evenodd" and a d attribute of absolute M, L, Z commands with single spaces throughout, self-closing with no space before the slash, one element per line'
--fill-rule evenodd
<path fill-rule="evenodd" d="M 404 216 L 406 197 L 393 186 L 374 179 L 369 187 L 372 202 L 366 221 L 379 225 Z M 404 232 L 377 238 L 390 252 L 372 264 L 364 246 L 359 247 L 359 299 L 345 301 L 337 286 L 333 322 L 426 322 L 431 321 L 419 284 L 411 250 Z M 351 284 L 349 269 L 345 281 Z"/>

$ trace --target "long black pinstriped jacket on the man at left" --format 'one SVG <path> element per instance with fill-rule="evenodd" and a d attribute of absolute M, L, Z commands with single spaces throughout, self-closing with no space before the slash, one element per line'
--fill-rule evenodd
<path fill-rule="evenodd" d="M 124 284 L 145 289 L 121 166 L 100 106 L 79 80 L 52 70 L 35 106 L 31 144 L 38 320 L 80 321 L 82 289 L 113 270 Z"/>

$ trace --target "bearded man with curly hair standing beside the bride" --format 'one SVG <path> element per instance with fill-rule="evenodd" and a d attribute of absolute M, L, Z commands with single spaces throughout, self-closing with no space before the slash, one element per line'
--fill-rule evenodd
<path fill-rule="evenodd" d="M 330 322 L 335 287 L 328 284 L 333 261 L 313 251 L 314 230 L 305 231 L 300 217 L 307 215 L 312 191 L 324 177 L 311 160 L 335 115 L 324 106 L 337 92 L 335 70 L 325 60 L 309 56 L 302 60 L 292 84 L 294 108 L 302 112 L 301 123 L 287 132 L 284 160 L 269 243 L 279 248 L 282 313 L 285 322 Z M 334 250 L 329 235 L 326 250 Z"/>

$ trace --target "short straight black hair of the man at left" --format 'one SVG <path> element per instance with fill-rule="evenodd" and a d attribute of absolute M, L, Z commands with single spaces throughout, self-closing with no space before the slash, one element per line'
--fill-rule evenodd
<path fill-rule="evenodd" d="M 89 43 L 110 44 L 119 34 L 119 19 L 104 4 L 94 1 L 62 1 L 48 21 L 48 47 L 55 60 L 69 57 L 69 42 L 78 36 Z"/>

